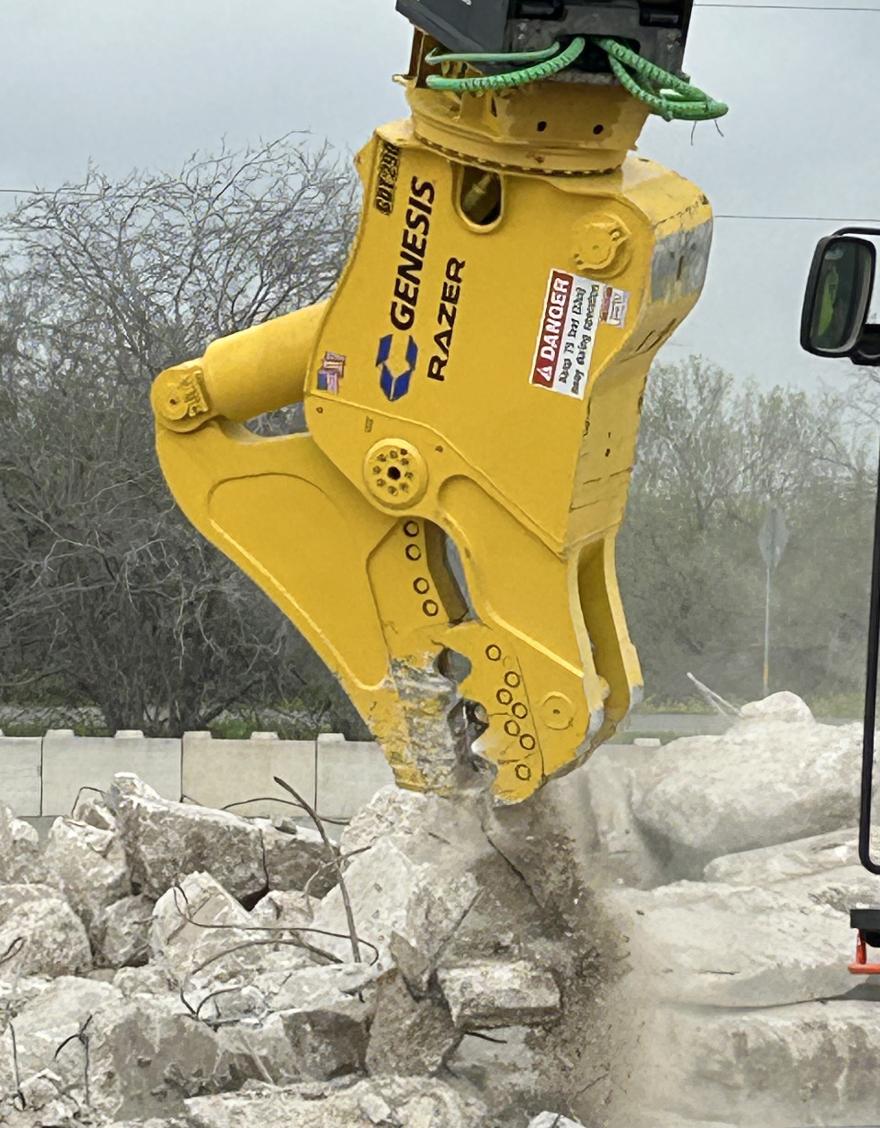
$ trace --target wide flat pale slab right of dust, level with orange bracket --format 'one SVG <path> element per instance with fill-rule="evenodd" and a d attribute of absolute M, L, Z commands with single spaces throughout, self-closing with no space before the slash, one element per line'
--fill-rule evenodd
<path fill-rule="evenodd" d="M 842 995 L 847 925 L 783 888 L 678 882 L 605 897 L 652 997 L 707 1006 L 781 1006 Z"/>

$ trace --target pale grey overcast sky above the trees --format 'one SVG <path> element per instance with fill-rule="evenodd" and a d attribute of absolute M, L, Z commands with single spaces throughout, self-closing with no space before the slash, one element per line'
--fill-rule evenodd
<path fill-rule="evenodd" d="M 89 158 L 175 168 L 222 136 L 305 129 L 353 151 L 405 112 L 390 76 L 408 38 L 394 0 L 0 0 L 0 188 L 76 182 Z M 697 6 L 687 70 L 730 104 L 724 135 L 701 124 L 692 143 L 688 124 L 653 120 L 640 143 L 719 215 L 706 290 L 667 359 L 701 352 L 801 387 L 852 372 L 797 343 L 812 246 L 835 223 L 721 217 L 880 221 L 878 44 L 880 12 Z"/>

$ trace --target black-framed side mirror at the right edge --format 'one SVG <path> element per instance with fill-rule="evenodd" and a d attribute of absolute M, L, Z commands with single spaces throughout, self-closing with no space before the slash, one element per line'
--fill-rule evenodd
<path fill-rule="evenodd" d="M 817 356 L 850 356 L 865 327 L 877 252 L 868 239 L 829 235 L 820 239 L 807 279 L 801 347 Z"/>

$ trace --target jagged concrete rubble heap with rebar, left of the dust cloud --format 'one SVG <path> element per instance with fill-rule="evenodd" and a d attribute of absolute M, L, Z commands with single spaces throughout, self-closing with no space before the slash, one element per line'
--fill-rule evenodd
<path fill-rule="evenodd" d="M 548 1109 L 593 937 L 481 795 L 386 788 L 336 844 L 127 774 L 42 848 L 0 814 L 0 1123 L 578 1123 Z M 508 1047 L 499 1083 L 484 1050 Z"/>

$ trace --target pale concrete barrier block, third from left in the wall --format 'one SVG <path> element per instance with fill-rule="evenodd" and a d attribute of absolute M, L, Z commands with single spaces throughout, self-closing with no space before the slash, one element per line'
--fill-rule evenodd
<path fill-rule="evenodd" d="M 274 781 L 280 776 L 309 803 L 315 800 L 315 741 L 279 740 L 278 733 L 255 732 L 250 740 L 214 740 L 210 732 L 183 738 L 183 793 L 204 807 L 229 807 L 236 814 L 297 812 L 290 795 Z M 272 796 L 276 795 L 278 801 Z M 257 799 L 257 803 L 245 800 Z M 238 805 L 241 804 L 241 805 Z"/>

